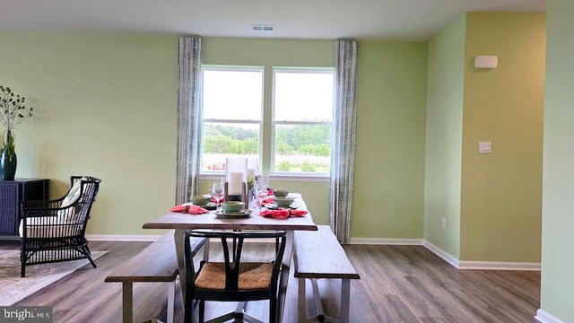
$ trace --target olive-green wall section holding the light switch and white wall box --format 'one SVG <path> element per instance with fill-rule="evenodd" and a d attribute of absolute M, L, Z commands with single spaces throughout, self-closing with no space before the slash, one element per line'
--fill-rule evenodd
<path fill-rule="evenodd" d="M 545 14 L 467 13 L 465 39 L 460 259 L 540 262 Z"/>

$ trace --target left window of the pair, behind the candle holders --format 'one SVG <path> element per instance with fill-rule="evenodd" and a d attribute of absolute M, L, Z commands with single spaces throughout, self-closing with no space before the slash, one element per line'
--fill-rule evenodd
<path fill-rule="evenodd" d="M 263 110 L 262 68 L 203 71 L 202 172 L 225 170 L 227 157 L 258 158 Z"/>

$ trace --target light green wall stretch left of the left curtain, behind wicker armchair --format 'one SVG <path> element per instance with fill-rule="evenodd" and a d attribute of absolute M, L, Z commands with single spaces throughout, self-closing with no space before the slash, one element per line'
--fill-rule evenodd
<path fill-rule="evenodd" d="M 0 32 L 0 84 L 36 115 L 16 127 L 17 178 L 102 179 L 91 234 L 143 231 L 173 205 L 178 37 Z"/>

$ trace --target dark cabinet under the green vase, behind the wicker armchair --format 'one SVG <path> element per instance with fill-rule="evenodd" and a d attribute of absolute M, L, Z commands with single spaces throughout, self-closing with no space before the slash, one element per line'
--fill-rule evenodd
<path fill-rule="evenodd" d="M 48 199 L 49 179 L 0 180 L 0 236 L 18 237 L 20 202 Z"/>

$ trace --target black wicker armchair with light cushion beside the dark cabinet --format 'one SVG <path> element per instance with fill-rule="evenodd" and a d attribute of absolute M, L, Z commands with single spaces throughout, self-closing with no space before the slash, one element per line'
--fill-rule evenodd
<path fill-rule="evenodd" d="M 22 201 L 20 223 L 21 276 L 26 266 L 87 258 L 94 268 L 86 224 L 100 179 L 71 176 L 70 189 L 56 200 Z"/>

